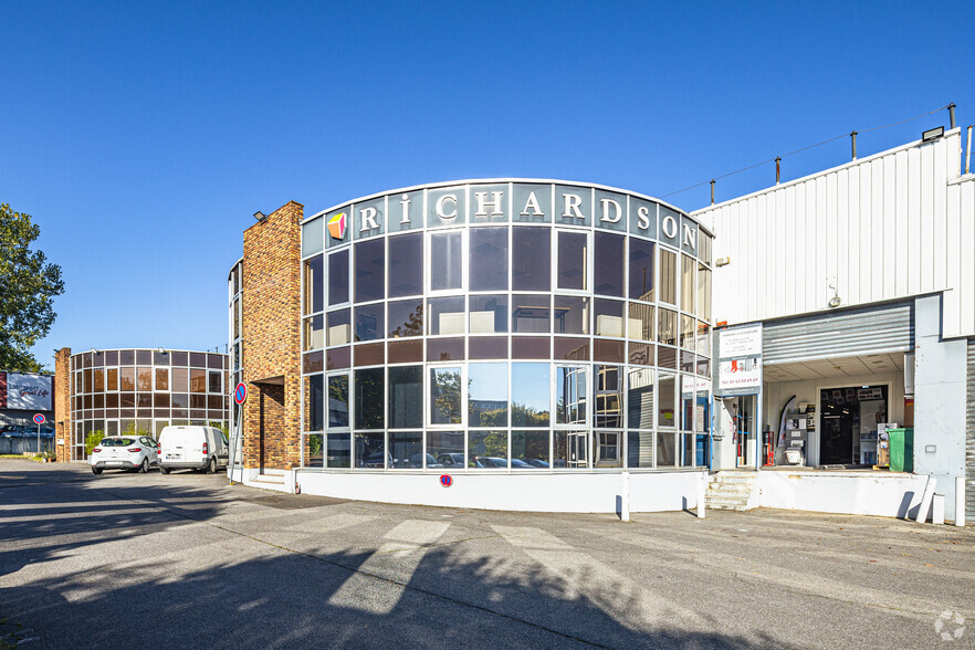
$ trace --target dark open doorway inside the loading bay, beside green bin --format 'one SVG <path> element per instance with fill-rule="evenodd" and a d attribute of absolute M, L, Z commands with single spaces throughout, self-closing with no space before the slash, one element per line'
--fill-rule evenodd
<path fill-rule="evenodd" d="M 819 462 L 877 462 L 877 424 L 887 422 L 887 386 L 851 386 L 819 391 Z"/>

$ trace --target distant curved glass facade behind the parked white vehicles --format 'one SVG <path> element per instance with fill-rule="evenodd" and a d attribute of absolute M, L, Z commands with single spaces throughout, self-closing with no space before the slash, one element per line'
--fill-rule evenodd
<path fill-rule="evenodd" d="M 158 437 L 168 424 L 227 430 L 227 355 L 103 349 L 71 356 L 72 460 L 92 431 Z"/>

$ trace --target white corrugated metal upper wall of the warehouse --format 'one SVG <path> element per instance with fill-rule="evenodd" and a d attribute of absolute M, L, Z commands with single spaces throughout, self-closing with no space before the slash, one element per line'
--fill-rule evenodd
<path fill-rule="evenodd" d="M 715 259 L 731 258 L 714 272 L 715 321 L 951 290 L 944 336 L 975 336 L 975 176 L 960 160 L 955 129 L 693 212 Z"/>

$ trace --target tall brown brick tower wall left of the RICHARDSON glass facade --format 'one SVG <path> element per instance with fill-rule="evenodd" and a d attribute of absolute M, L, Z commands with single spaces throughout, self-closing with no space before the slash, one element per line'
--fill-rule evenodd
<path fill-rule="evenodd" d="M 244 468 L 301 462 L 301 222 L 294 201 L 244 231 L 241 365 Z"/>

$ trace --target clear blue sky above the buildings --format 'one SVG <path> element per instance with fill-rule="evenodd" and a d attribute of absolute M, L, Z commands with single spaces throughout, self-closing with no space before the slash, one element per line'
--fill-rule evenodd
<path fill-rule="evenodd" d="M 663 197 L 950 102 L 975 122 L 965 2 L 33 1 L 0 24 L 0 202 L 66 284 L 34 348 L 51 365 L 223 344 L 241 233 L 292 199 L 494 176 Z M 784 178 L 848 159 L 842 138 Z M 717 198 L 772 182 L 766 165 Z"/>

